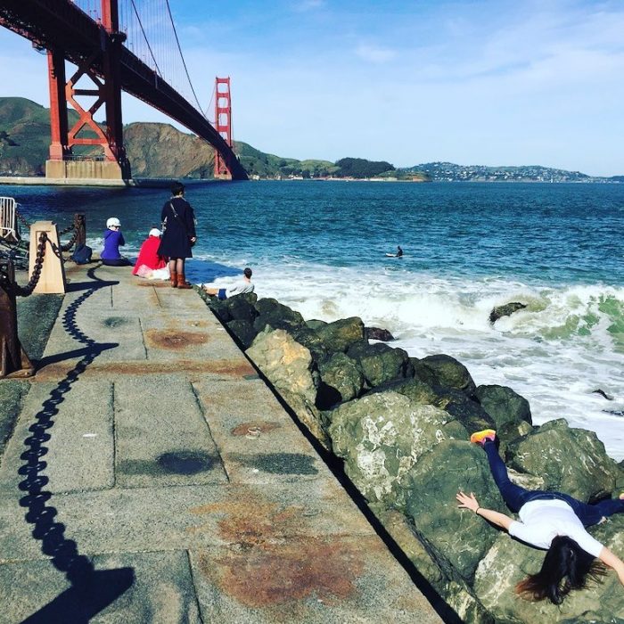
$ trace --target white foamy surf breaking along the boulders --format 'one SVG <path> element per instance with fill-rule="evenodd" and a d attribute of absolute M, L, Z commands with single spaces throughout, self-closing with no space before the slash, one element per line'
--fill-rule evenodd
<path fill-rule="evenodd" d="M 304 318 L 360 316 L 389 329 L 394 345 L 412 356 L 456 357 L 477 384 L 507 385 L 527 398 L 534 423 L 565 418 L 624 458 L 624 349 L 609 331 L 617 319 L 601 309 L 608 300 L 624 305 L 622 288 L 540 287 L 496 277 L 464 283 L 301 263 L 262 267 L 256 283 L 259 296 L 275 297 Z M 491 309 L 509 301 L 528 307 L 489 324 Z"/>

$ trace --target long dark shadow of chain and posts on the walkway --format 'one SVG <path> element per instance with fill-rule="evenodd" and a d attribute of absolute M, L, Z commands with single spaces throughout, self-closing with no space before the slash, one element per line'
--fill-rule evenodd
<path fill-rule="evenodd" d="M 80 353 L 82 357 L 58 382 L 34 416 L 35 423 L 29 427 L 31 435 L 24 440 L 27 449 L 21 454 L 23 464 L 18 472 L 24 479 L 19 488 L 26 494 L 21 497 L 20 505 L 27 510 L 25 519 L 33 525 L 32 535 L 41 541 L 42 552 L 51 557 L 53 566 L 62 571 L 70 582 L 70 587 L 62 594 L 23 620 L 28 624 L 86 623 L 124 594 L 135 580 L 133 568 L 96 571 L 93 562 L 86 555 L 79 554 L 76 542 L 65 537 L 65 525 L 56 520 L 57 510 L 52 505 L 52 492 L 45 491 L 49 479 L 44 474 L 47 462 L 43 461 L 43 457 L 48 452 L 45 445 L 52 437 L 50 431 L 59 414 L 59 406 L 94 359 L 103 351 L 118 346 L 117 343 L 94 341 L 82 333 L 76 323 L 78 308 L 95 291 L 112 284 L 96 277 L 96 268 L 87 272 L 92 280 L 91 288 L 75 300 L 62 317 L 65 331 L 83 346 L 72 353 Z"/>

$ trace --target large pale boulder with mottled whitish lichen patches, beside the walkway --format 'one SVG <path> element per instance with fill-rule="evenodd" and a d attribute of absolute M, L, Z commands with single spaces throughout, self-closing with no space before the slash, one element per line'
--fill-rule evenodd
<path fill-rule="evenodd" d="M 369 501 L 400 507 L 405 498 L 401 479 L 448 437 L 449 420 L 437 407 L 383 392 L 334 409 L 329 433 L 333 452 L 345 460 L 345 472 L 357 489 Z"/>

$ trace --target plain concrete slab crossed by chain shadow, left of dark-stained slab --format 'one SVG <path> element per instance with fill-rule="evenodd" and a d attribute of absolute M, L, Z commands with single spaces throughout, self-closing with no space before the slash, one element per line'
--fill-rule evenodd
<path fill-rule="evenodd" d="M 42 423 L 42 430 L 33 425 Z M 37 471 L 51 492 L 111 488 L 113 433 L 111 382 L 33 384 L 4 452 L 0 490 L 17 490 L 25 480 L 30 448 L 40 449 Z M 20 473 L 18 471 L 21 471 Z"/>

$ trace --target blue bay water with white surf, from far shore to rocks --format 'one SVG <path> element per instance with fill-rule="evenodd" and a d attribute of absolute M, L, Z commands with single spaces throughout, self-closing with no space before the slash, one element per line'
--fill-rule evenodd
<path fill-rule="evenodd" d="M 168 199 L 152 189 L 0 194 L 29 220 L 66 226 L 85 211 L 94 250 L 118 217 L 129 257 Z M 447 353 L 478 385 L 527 398 L 534 423 L 565 418 L 624 458 L 624 185 L 203 183 L 186 197 L 199 222 L 193 282 L 226 284 L 250 266 L 260 297 L 305 318 L 361 316 L 415 357 Z M 405 256 L 387 258 L 398 244 Z M 492 307 L 509 301 L 528 307 L 490 325 Z"/>

